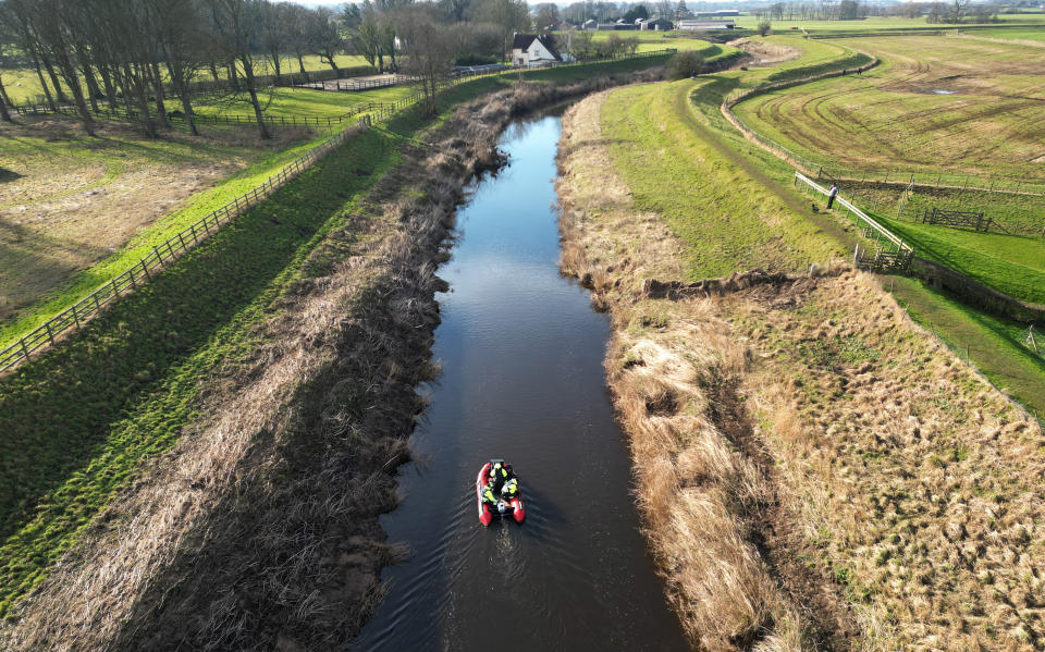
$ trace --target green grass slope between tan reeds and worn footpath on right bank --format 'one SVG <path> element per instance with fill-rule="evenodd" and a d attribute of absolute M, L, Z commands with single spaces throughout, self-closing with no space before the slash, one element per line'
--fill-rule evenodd
<path fill-rule="evenodd" d="M 616 90 L 602 111 L 603 134 L 614 143 L 611 151 L 637 208 L 664 216 L 690 245 L 690 279 L 757 267 L 795 271 L 840 255 L 761 180 L 693 134 L 692 86 L 681 81 Z"/>

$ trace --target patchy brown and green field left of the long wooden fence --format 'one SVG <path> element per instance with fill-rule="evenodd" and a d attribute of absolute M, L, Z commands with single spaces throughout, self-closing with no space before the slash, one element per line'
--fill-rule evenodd
<path fill-rule="evenodd" d="M 358 94 L 278 88 L 266 98 L 266 112 L 337 118 L 353 107 L 394 101 L 410 93 L 409 87 Z M 243 100 L 200 104 L 199 110 L 251 113 Z M 272 143 L 260 142 L 250 125 L 201 124 L 202 137 L 170 133 L 158 139 L 143 138 L 121 123 L 113 123 L 101 138 L 83 136 L 71 120 L 27 119 L 22 125 L 2 127 L 0 136 L 7 137 L 0 140 L 0 164 L 23 176 L 2 189 L 3 195 L 11 194 L 0 208 L 7 213 L 4 222 L 10 221 L 5 229 L 17 237 L 11 238 L 12 255 L 0 265 L 4 274 L 0 293 L 7 299 L 7 306 L 0 306 L 5 318 L 0 322 L 0 346 L 349 124 L 280 127 L 273 130 Z M 99 163 L 106 165 L 103 175 Z M 199 192 L 193 194 L 194 189 Z M 181 206 L 172 211 L 172 205 Z M 133 218 L 113 221 L 113 213 Z M 70 239 L 79 247 L 71 247 Z"/>

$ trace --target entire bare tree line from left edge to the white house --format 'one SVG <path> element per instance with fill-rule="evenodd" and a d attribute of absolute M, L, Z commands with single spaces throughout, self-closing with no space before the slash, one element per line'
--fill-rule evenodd
<path fill-rule="evenodd" d="M 367 0 L 341 14 L 269 0 L 0 0 L 0 119 L 10 121 L 13 106 L 2 69 L 19 66 L 34 71 L 51 110 L 72 109 L 87 134 L 99 102 L 149 136 L 169 124 L 174 102 L 198 135 L 194 82 L 209 76 L 249 100 L 268 138 L 259 76 L 271 71 L 279 83 L 288 58 L 305 75 L 309 54 L 335 74 L 341 53 L 358 52 L 381 72 L 405 58 L 433 81 L 465 53 L 503 57 L 530 25 L 525 0 Z"/>

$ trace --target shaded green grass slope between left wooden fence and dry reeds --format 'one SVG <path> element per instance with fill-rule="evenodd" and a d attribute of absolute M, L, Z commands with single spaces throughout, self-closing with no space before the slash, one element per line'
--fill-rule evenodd
<path fill-rule="evenodd" d="M 663 61 L 525 76 L 568 82 Z M 468 82 L 444 93 L 442 106 L 514 83 Z M 42 581 L 142 464 L 200 417 L 208 379 L 258 349 L 258 324 L 278 315 L 309 251 L 345 225 L 396 164 L 397 148 L 426 126 L 407 114 L 355 137 L 69 342 L 0 380 L 0 613 Z"/>

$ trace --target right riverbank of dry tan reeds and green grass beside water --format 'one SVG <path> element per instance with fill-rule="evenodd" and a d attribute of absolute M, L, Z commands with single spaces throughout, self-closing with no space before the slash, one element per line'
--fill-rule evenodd
<path fill-rule="evenodd" d="M 575 128 L 601 130 L 567 133 L 561 162 L 563 267 L 613 313 L 610 382 L 684 622 L 710 650 L 1031 649 L 1045 631 L 1035 423 L 871 276 L 738 282 L 725 299 L 641 292 L 729 257 L 787 270 L 837 246 L 800 226 L 813 216 L 790 209 L 786 165 L 716 118 L 752 83 L 734 75 L 587 100 Z M 750 201 L 702 189 L 716 185 Z M 801 239 L 759 239 L 767 222 Z M 755 250 L 722 246 L 737 238 Z"/>

